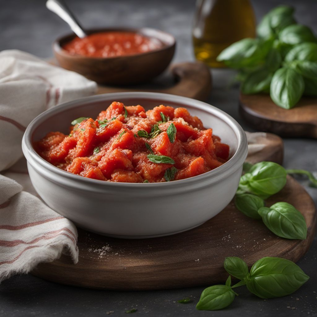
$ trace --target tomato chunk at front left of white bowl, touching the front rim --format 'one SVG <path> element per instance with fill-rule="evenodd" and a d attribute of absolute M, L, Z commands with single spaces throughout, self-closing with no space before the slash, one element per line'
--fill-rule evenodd
<path fill-rule="evenodd" d="M 106 180 L 98 168 L 98 163 L 86 157 L 75 158 L 68 165 L 67 171 L 83 177 Z"/>

